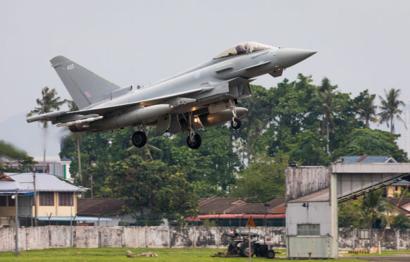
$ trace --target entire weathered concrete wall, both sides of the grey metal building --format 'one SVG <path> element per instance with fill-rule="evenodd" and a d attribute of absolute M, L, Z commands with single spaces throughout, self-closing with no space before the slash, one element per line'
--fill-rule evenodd
<path fill-rule="evenodd" d="M 73 247 L 216 247 L 228 246 L 224 233 L 231 229 L 247 232 L 246 227 L 73 227 Z M 256 227 L 251 230 L 272 239 L 275 248 L 286 247 L 285 227 Z M 339 229 L 340 249 L 369 249 L 377 246 L 383 230 L 361 232 L 354 228 Z M 366 233 L 366 234 L 364 234 Z M 12 227 L 0 228 L 0 251 L 15 249 L 15 231 Z M 20 227 L 18 248 L 48 249 L 70 247 L 70 226 Z M 410 249 L 410 229 L 387 230 L 382 249 Z"/>

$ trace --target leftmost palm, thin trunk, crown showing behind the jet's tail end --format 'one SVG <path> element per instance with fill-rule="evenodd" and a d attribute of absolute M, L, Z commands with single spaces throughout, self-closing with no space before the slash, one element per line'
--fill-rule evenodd
<path fill-rule="evenodd" d="M 61 100 L 60 96 L 57 96 L 56 89 L 49 89 L 49 87 L 44 87 L 42 89 L 41 99 L 36 99 L 38 107 L 35 107 L 30 113 L 27 113 L 27 117 L 33 115 L 41 115 L 43 113 L 50 113 L 54 110 L 60 110 L 61 106 L 66 103 L 66 100 Z M 42 121 L 44 130 L 44 139 L 46 139 L 46 130 L 49 127 L 47 121 Z M 43 156 L 43 173 L 46 172 L 46 146 L 44 146 L 44 156 Z"/>

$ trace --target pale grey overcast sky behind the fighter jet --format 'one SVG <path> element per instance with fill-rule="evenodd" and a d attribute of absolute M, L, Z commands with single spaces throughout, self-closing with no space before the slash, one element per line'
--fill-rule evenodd
<path fill-rule="evenodd" d="M 49 60 L 63 55 L 120 86 L 148 85 L 238 42 L 318 51 L 282 77 L 328 77 L 353 96 L 402 89 L 410 100 L 410 1 L 0 1 L 0 139 L 42 154 L 25 122 L 41 89 L 70 99 Z M 6 126 L 5 126 L 6 124 Z M 32 131 L 37 128 L 37 131 Z M 382 128 L 379 126 L 379 128 Z M 48 149 L 58 153 L 58 131 Z M 24 138 L 22 137 L 24 136 Z"/>

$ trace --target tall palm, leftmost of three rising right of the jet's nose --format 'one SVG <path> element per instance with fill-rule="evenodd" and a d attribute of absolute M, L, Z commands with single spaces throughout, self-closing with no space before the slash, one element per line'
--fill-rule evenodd
<path fill-rule="evenodd" d="M 333 89 L 335 87 L 332 87 L 330 85 L 330 82 L 328 78 L 323 78 L 322 80 L 322 85 L 319 87 L 318 90 L 318 97 L 319 97 L 319 111 L 321 111 L 322 114 L 322 125 L 321 125 L 321 130 L 322 130 L 322 135 L 324 135 L 324 130 L 326 125 L 326 139 L 327 144 L 326 144 L 326 153 L 330 154 L 329 151 L 329 125 L 332 127 L 332 133 L 336 133 L 336 124 L 334 119 L 334 113 L 339 111 L 340 105 L 337 103 L 336 96 L 337 92 L 333 92 Z"/>

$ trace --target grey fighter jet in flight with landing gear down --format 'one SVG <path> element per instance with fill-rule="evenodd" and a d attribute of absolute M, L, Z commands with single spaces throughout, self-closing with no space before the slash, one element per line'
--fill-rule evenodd
<path fill-rule="evenodd" d="M 283 70 L 315 54 L 304 49 L 278 48 L 244 42 L 226 49 L 211 61 L 146 87 L 119 87 L 64 56 L 51 59 L 78 111 L 55 111 L 27 118 L 27 122 L 51 121 L 72 132 L 100 132 L 139 127 L 132 144 L 147 143 L 145 127 L 159 132 L 187 132 L 191 149 L 201 146 L 201 128 L 223 125 L 239 129 L 238 118 L 247 108 L 237 99 L 251 95 L 255 77 L 282 75 Z"/>

